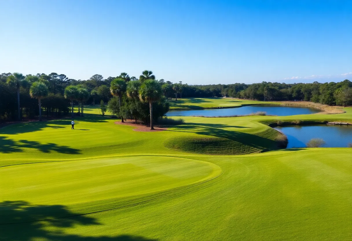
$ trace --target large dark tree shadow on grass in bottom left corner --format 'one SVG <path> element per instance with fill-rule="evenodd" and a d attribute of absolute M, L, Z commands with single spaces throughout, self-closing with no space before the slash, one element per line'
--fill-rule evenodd
<path fill-rule="evenodd" d="M 87 240 L 87 241 L 157 241 L 140 236 L 67 235 L 65 228 L 103 225 L 96 218 L 72 212 L 63 205 L 32 205 L 25 201 L 0 202 L 0 239 Z M 89 229 L 89 227 L 87 227 Z"/>

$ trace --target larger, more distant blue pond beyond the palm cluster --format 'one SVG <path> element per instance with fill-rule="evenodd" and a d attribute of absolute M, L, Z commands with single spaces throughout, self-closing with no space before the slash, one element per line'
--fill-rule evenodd
<path fill-rule="evenodd" d="M 283 106 L 283 105 L 248 105 L 227 109 L 201 109 L 201 110 L 171 110 L 167 116 L 233 116 L 249 115 L 254 112 L 264 111 L 266 115 L 273 116 L 293 116 L 306 115 L 321 112 L 320 109 L 303 106 Z"/>

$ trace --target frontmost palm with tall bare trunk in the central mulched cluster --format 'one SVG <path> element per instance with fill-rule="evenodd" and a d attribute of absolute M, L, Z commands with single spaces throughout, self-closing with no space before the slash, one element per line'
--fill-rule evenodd
<path fill-rule="evenodd" d="M 145 80 L 139 88 L 139 99 L 144 102 L 149 102 L 150 111 L 150 129 L 154 130 L 153 126 L 153 102 L 160 100 L 163 91 L 158 81 L 149 79 Z"/>

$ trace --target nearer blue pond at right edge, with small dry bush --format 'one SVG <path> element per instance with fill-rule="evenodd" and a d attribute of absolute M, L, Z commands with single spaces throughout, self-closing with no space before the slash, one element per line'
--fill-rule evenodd
<path fill-rule="evenodd" d="M 352 125 L 289 125 L 274 129 L 287 136 L 287 148 L 306 147 L 312 138 L 323 139 L 323 147 L 348 147 L 352 143 Z"/>

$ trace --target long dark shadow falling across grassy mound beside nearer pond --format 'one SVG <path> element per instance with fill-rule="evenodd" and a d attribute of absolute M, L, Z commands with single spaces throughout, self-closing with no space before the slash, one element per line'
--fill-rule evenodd
<path fill-rule="evenodd" d="M 249 128 L 245 126 L 234 126 L 225 124 L 204 124 L 204 123 L 186 123 L 174 127 L 174 130 L 180 132 L 193 132 L 199 135 L 214 136 L 219 138 L 226 138 L 229 140 L 240 142 L 246 146 L 262 149 L 275 150 L 278 149 L 277 142 L 266 137 L 247 134 L 235 130 L 227 130 L 226 128 Z"/>

